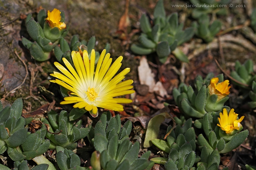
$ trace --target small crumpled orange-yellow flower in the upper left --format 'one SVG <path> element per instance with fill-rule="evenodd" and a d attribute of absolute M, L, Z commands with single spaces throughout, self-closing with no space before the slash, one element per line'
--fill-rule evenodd
<path fill-rule="evenodd" d="M 51 28 L 58 27 L 60 30 L 66 28 L 66 24 L 64 22 L 60 22 L 60 13 L 61 12 L 56 8 L 54 8 L 52 12 L 48 10 L 47 18 L 45 20 L 47 20 Z"/>

